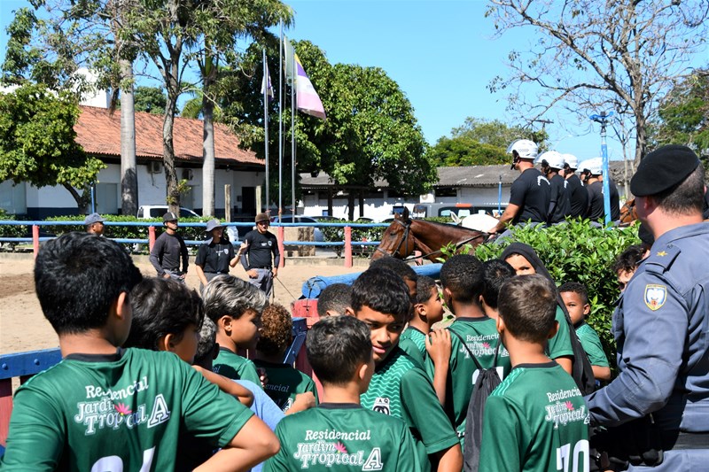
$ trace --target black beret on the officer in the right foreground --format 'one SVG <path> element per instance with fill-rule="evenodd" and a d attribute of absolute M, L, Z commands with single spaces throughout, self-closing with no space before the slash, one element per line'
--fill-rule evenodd
<path fill-rule="evenodd" d="M 687 146 L 662 146 L 640 161 L 630 191 L 637 197 L 658 194 L 682 182 L 698 165 L 697 154 Z"/>

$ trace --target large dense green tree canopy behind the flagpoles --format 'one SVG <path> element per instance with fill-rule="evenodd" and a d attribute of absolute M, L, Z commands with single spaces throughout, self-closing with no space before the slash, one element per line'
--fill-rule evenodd
<path fill-rule="evenodd" d="M 409 99 L 399 85 L 378 67 L 332 66 L 325 54 L 308 41 L 295 50 L 323 101 L 327 120 L 296 112 L 298 172 L 324 171 L 340 186 L 370 187 L 386 179 L 396 191 L 418 195 L 435 182 L 435 167 L 426 156 L 427 144 Z M 224 120 L 236 124 L 242 143 L 264 156 L 261 50 L 245 59 L 244 74 L 233 77 L 233 97 L 226 97 Z M 277 50 L 267 50 L 271 80 L 277 85 Z M 274 60 L 275 59 L 275 60 Z M 248 66 L 247 66 L 248 65 Z M 286 93 L 284 109 L 290 107 Z M 277 100 L 269 104 L 269 158 L 277 169 Z M 290 111 L 284 111 L 284 193 L 290 190 Z M 277 189 L 277 175 L 271 174 Z M 273 193 L 272 193 L 273 195 Z M 273 198 L 271 198 L 273 199 Z"/>

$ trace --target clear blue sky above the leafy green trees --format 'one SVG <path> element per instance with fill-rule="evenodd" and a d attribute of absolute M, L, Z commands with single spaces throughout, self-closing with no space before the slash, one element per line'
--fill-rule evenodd
<path fill-rule="evenodd" d="M 316 44 L 331 64 L 384 69 L 409 98 L 428 143 L 450 135 L 467 117 L 518 124 L 506 111 L 504 92 L 492 94 L 487 84 L 496 75 L 510 74 L 505 58 L 531 38 L 523 31 L 493 37 L 495 27 L 485 18 L 484 0 L 284 2 L 295 12 L 286 35 Z M 2 58 L 12 10 L 27 4 L 27 0 L 0 0 Z M 578 124 L 570 116 L 549 119 L 555 121 L 547 126 L 552 149 L 571 152 L 580 160 L 600 155 L 599 125 L 591 120 Z M 622 159 L 622 148 L 610 133 L 608 153 L 610 159 Z"/>

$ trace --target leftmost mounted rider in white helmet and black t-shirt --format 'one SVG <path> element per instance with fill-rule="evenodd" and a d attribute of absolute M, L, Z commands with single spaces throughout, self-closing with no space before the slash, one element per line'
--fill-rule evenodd
<path fill-rule="evenodd" d="M 510 144 L 507 152 L 511 153 L 514 159 L 512 168 L 521 174 L 512 182 L 510 204 L 505 208 L 500 221 L 487 231 L 490 234 L 502 231 L 507 224 L 547 222 L 551 190 L 547 178 L 534 167 L 538 152 L 536 143 L 519 139 Z M 502 236 L 507 234 L 509 232 L 503 233 Z"/>

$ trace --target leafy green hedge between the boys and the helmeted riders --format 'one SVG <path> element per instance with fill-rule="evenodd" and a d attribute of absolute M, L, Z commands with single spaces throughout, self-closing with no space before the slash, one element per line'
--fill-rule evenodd
<path fill-rule="evenodd" d="M 615 367 L 611 318 L 620 292 L 612 266 L 627 246 L 640 244 L 637 228 L 593 228 L 588 221 L 569 221 L 551 228 L 514 228 L 512 234 L 514 241 L 534 247 L 557 285 L 565 282 L 586 285 L 591 304 L 588 324 L 596 329 L 608 360 Z M 475 254 L 480 260 L 493 259 L 511 242 L 481 244 Z"/>

